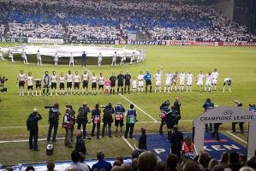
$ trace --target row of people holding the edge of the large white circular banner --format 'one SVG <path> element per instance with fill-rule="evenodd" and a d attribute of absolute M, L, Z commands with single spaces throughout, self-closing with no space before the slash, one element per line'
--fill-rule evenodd
<path fill-rule="evenodd" d="M 13 53 L 10 50 L 8 52 L 8 56 L 9 56 L 11 62 L 14 62 L 14 56 L 13 56 Z M 40 54 L 39 50 L 38 50 L 36 56 L 37 56 L 38 65 L 42 65 L 42 57 L 41 57 L 41 54 Z M 82 56 L 82 63 L 81 63 L 81 65 L 83 66 L 83 63 L 84 64 L 86 63 L 86 52 L 84 51 L 81 56 Z M 1 49 L 0 49 L 0 57 L 1 57 L 1 59 L 3 59 L 3 55 L 2 55 Z M 24 64 L 28 64 L 28 62 L 27 62 L 27 53 L 26 53 L 26 51 L 24 49 L 21 51 L 21 57 L 23 59 Z M 57 66 L 58 62 L 59 62 L 59 58 L 61 56 L 59 56 L 56 53 L 53 57 L 54 57 L 54 66 Z M 145 57 L 145 50 L 139 50 L 139 55 L 137 56 L 137 60 L 135 59 L 135 53 L 133 52 L 133 54 L 130 56 L 129 64 L 133 64 L 134 62 L 137 62 L 137 63 L 138 62 L 143 62 L 144 61 L 144 57 Z M 115 51 L 113 56 L 112 56 L 111 66 L 116 66 L 116 58 L 117 58 L 117 53 Z M 103 60 L 103 56 L 102 56 L 101 52 L 99 52 L 98 57 L 97 57 L 98 67 L 101 66 L 102 60 Z M 126 61 L 126 56 L 125 55 L 120 56 L 120 65 L 123 65 L 123 63 L 125 61 Z M 69 67 L 70 66 L 74 67 L 74 54 L 73 54 L 73 52 L 71 52 L 70 56 L 69 56 Z"/>

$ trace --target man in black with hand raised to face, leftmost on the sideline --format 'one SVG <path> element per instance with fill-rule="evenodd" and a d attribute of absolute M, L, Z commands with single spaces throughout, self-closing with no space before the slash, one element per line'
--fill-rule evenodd
<path fill-rule="evenodd" d="M 33 109 L 27 118 L 27 131 L 29 131 L 29 149 L 38 151 L 38 138 L 39 138 L 39 120 L 42 116 L 39 114 L 38 109 Z"/>

